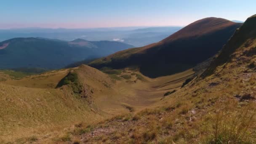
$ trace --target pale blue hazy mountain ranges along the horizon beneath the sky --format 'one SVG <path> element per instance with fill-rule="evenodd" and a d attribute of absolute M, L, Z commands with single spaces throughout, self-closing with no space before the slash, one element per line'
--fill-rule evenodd
<path fill-rule="evenodd" d="M 181 27 L 113 27 L 95 29 L 49 29 L 32 27 L 0 29 L 0 41 L 15 37 L 45 37 L 67 41 L 82 38 L 90 41 L 119 41 L 139 47 L 158 42 L 179 29 Z"/>

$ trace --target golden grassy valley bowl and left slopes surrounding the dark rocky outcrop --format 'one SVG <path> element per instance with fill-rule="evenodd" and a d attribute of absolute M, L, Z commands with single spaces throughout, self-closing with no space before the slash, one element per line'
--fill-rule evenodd
<path fill-rule="evenodd" d="M 56 88 L 70 71 L 77 72 L 85 83 L 89 91 L 85 99 L 77 98 L 66 86 Z M 138 112 L 160 101 L 166 91 L 180 87 L 193 73 L 190 69 L 177 75 L 149 79 L 131 70 L 107 75 L 82 65 L 19 79 L 10 77 L 0 83 L 0 142 L 69 140 L 66 132 L 76 128 L 74 123 L 96 125 L 108 117 Z"/>

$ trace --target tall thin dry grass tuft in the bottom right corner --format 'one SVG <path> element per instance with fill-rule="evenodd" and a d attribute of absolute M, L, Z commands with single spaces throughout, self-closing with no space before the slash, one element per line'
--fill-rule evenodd
<path fill-rule="evenodd" d="M 246 107 L 236 112 L 221 109 L 216 114 L 214 131 L 208 136 L 209 144 L 251 144 L 249 127 L 254 123 L 255 109 Z"/>

